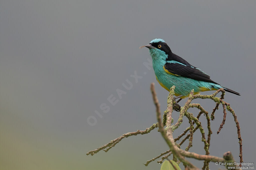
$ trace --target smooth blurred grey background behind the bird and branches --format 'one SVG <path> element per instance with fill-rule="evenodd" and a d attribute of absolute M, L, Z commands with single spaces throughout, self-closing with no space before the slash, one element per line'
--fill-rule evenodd
<path fill-rule="evenodd" d="M 150 58 L 148 50 L 138 48 L 153 38 L 163 38 L 175 54 L 241 93 L 226 93 L 225 101 L 240 122 L 244 162 L 255 161 L 254 0 L 2 0 L 0 169 L 160 169 L 156 161 L 143 165 L 168 150 L 156 129 L 125 138 L 107 153 L 86 155 L 156 122 L 151 82 L 156 83 L 161 111 L 166 109 L 168 92 L 156 82 L 153 69 L 143 65 Z M 142 76 L 137 83 L 130 77 L 134 71 Z M 128 85 L 126 79 L 133 84 L 131 90 L 122 86 Z M 126 92 L 122 99 L 116 89 Z M 112 95 L 118 99 L 115 106 L 107 99 Z M 211 100 L 194 102 L 209 112 L 215 106 Z M 102 103 L 109 106 L 107 113 Z M 228 112 L 226 124 L 216 133 L 221 108 L 211 122 L 210 154 L 222 157 L 231 151 L 239 161 L 232 114 Z M 178 113 L 173 116 L 177 121 Z M 203 116 L 200 121 L 207 129 Z M 184 119 L 174 136 L 187 126 Z M 199 131 L 190 151 L 205 154 Z M 210 164 L 211 169 L 218 167 Z"/>

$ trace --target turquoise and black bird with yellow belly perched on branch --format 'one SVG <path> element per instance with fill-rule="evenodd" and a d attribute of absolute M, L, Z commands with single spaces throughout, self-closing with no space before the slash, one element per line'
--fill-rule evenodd
<path fill-rule="evenodd" d="M 201 91 L 220 88 L 240 96 L 236 91 L 212 81 L 208 74 L 172 53 L 172 50 L 163 39 L 154 39 L 148 45 L 140 48 L 143 47 L 149 49 L 156 80 L 168 91 L 173 85 L 176 86 L 174 90 L 175 96 L 186 98 L 192 89 L 194 89 L 194 94 L 199 94 Z"/>

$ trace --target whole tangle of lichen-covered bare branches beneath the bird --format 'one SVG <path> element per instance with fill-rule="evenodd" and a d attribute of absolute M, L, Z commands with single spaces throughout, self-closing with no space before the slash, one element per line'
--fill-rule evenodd
<path fill-rule="evenodd" d="M 186 101 L 185 105 L 183 107 L 181 107 L 174 99 L 173 99 L 173 95 L 174 95 L 174 89 L 175 86 L 173 86 L 170 89 L 170 93 L 167 99 L 167 109 L 164 111 L 163 114 L 163 121 L 161 121 L 161 111 L 160 111 L 160 104 L 159 101 L 157 99 L 156 96 L 156 92 L 155 92 L 155 88 L 154 88 L 154 83 L 151 84 L 151 93 L 152 93 L 152 97 L 153 97 L 153 101 L 155 104 L 155 108 L 156 108 L 156 114 L 157 114 L 157 123 L 153 124 L 152 126 L 146 128 L 145 130 L 137 130 L 136 132 L 128 132 L 126 134 L 123 134 L 122 136 L 111 140 L 109 143 L 95 149 L 92 151 L 87 152 L 86 154 L 89 155 L 94 155 L 97 152 L 103 150 L 105 152 L 108 152 L 112 147 L 114 147 L 117 143 L 119 143 L 123 138 L 129 137 L 129 136 L 136 136 L 138 134 L 148 134 L 151 132 L 151 130 L 155 129 L 158 127 L 158 131 L 161 132 L 162 136 L 164 137 L 166 143 L 169 146 L 169 150 L 161 153 L 160 155 L 156 156 L 155 158 L 152 158 L 151 160 L 148 160 L 144 165 L 147 166 L 150 162 L 160 158 L 161 160 L 157 161 L 157 163 L 162 163 L 164 159 L 168 159 L 168 157 L 173 154 L 173 160 L 179 164 L 180 162 L 183 163 L 183 165 L 185 166 L 185 169 L 199 169 L 197 167 L 195 167 L 192 163 L 190 163 L 188 160 L 186 160 L 185 158 L 194 158 L 197 160 L 204 160 L 204 166 L 202 167 L 202 169 L 209 169 L 209 162 L 234 162 L 233 160 L 233 156 L 231 154 L 231 152 L 226 152 L 223 155 L 223 158 L 217 157 L 217 156 L 212 156 L 209 155 L 209 146 L 210 146 L 210 138 L 211 138 L 211 125 L 210 125 L 210 117 L 211 120 L 214 120 L 214 114 L 216 112 L 216 110 L 219 107 L 219 104 L 222 104 L 223 107 L 223 121 L 220 125 L 220 128 L 217 132 L 217 134 L 220 132 L 220 130 L 223 128 L 223 125 L 225 124 L 225 120 L 226 120 L 226 115 L 227 112 L 226 110 L 228 110 L 229 112 L 232 113 L 233 117 L 234 117 L 234 121 L 236 123 L 236 127 L 237 127 L 237 134 L 238 134 L 238 139 L 239 139 L 239 146 L 240 146 L 240 163 L 243 162 L 243 157 L 242 157 L 242 138 L 241 138 L 241 134 L 240 134 L 240 126 L 239 126 L 239 122 L 237 121 L 237 116 L 234 112 L 234 110 L 230 107 L 230 104 L 223 101 L 224 99 L 224 95 L 225 95 L 225 91 L 224 89 L 219 89 L 217 90 L 214 94 L 212 95 L 194 95 L 194 90 L 191 90 L 191 93 L 188 97 L 188 100 Z M 221 92 L 221 97 L 218 98 L 216 97 L 216 95 Z M 196 98 L 201 98 L 201 99 L 211 99 L 214 102 L 216 102 L 216 106 L 213 109 L 211 116 L 209 116 L 208 112 L 200 105 L 197 103 L 191 103 L 192 100 L 196 99 Z M 195 117 L 193 115 L 193 113 L 188 112 L 189 108 L 198 108 L 199 109 L 199 113 L 197 115 L 197 117 Z M 178 111 L 179 114 L 179 118 L 177 120 L 177 122 L 172 125 L 173 123 L 173 118 L 172 118 L 172 112 L 173 111 Z M 204 128 L 201 125 L 201 122 L 199 121 L 199 117 L 204 114 L 206 116 L 206 120 L 207 120 L 207 128 L 208 128 L 208 135 L 207 135 L 207 139 L 205 137 L 205 131 Z M 175 129 L 177 129 L 183 122 L 183 117 L 184 115 L 187 117 L 190 126 L 187 127 L 184 132 L 182 134 L 180 134 L 178 137 L 173 138 L 173 131 Z M 196 126 L 194 127 L 194 124 L 196 124 Z M 166 128 L 164 129 L 164 126 L 166 126 Z M 202 135 L 201 140 L 204 142 L 204 149 L 205 149 L 205 155 L 200 155 L 194 152 L 188 152 L 188 150 L 193 146 L 193 135 L 195 133 L 195 131 L 199 129 L 200 133 Z M 189 131 L 189 134 L 187 134 L 187 132 Z M 187 134 L 187 135 L 186 135 Z M 180 143 L 176 143 L 176 141 L 180 140 L 183 136 L 186 137 L 184 139 L 182 139 L 182 141 L 180 141 Z M 181 145 L 187 140 L 189 139 L 189 144 L 188 146 L 185 148 L 185 150 L 181 149 Z M 240 165 L 241 166 L 241 165 Z M 227 168 L 227 167 L 226 167 Z"/>

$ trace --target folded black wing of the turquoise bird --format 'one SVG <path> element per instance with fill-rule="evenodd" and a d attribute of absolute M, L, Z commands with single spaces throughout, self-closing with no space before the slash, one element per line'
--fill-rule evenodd
<path fill-rule="evenodd" d="M 179 63 L 166 63 L 164 65 L 164 68 L 166 72 L 169 74 L 175 74 L 178 76 L 183 76 L 183 77 L 188 77 L 190 79 L 195 79 L 199 81 L 204 81 L 204 82 L 211 82 L 218 84 L 210 79 L 210 76 L 203 72 L 202 70 L 193 67 L 193 66 L 184 66 L 183 64 Z"/>

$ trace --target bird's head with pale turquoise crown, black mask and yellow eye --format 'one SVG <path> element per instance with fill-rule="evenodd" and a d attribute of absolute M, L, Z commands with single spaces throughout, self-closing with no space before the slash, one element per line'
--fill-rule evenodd
<path fill-rule="evenodd" d="M 168 54 L 172 53 L 170 47 L 166 44 L 163 39 L 156 38 L 152 40 L 148 45 L 141 46 L 140 48 L 147 47 L 149 49 L 149 53 L 151 57 L 154 58 L 162 58 L 168 57 Z"/>

